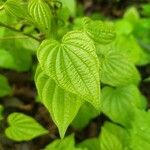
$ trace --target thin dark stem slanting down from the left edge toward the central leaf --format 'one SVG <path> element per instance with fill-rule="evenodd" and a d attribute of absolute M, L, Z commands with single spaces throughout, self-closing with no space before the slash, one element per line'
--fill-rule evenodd
<path fill-rule="evenodd" d="M 5 27 L 5 28 L 7 28 L 7 29 L 10 29 L 10 30 L 12 30 L 12 31 L 21 33 L 21 34 L 23 34 L 23 35 L 25 35 L 25 36 L 27 36 L 27 37 L 30 37 L 30 38 L 32 38 L 32 39 L 34 39 L 34 40 L 36 40 L 36 41 L 41 42 L 41 40 L 40 40 L 39 38 L 36 38 L 36 37 L 32 36 L 31 34 L 23 33 L 23 32 L 21 32 L 20 30 L 18 30 L 18 29 L 16 29 L 16 28 L 13 28 L 13 27 L 11 27 L 11 26 L 9 26 L 9 25 L 7 25 L 7 24 L 4 24 L 4 23 L 2 23 L 2 22 L 0 22 L 0 26 L 1 26 L 1 27 Z"/>

